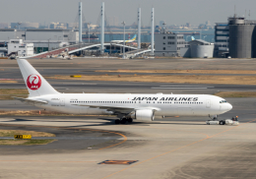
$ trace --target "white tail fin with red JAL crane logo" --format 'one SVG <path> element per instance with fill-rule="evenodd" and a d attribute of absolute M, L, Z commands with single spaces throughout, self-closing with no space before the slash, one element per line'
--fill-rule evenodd
<path fill-rule="evenodd" d="M 30 96 L 59 93 L 24 59 L 17 60 Z"/>

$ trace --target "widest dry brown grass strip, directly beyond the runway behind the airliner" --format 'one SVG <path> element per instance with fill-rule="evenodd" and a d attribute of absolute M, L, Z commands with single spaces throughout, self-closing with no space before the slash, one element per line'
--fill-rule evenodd
<path fill-rule="evenodd" d="M 72 80 L 69 76 L 54 76 L 48 79 Z M 115 81 L 115 82 L 156 82 L 175 84 L 224 84 L 224 85 L 256 85 L 256 76 L 210 76 L 210 75 L 98 75 L 82 76 L 75 79 L 82 81 Z"/>

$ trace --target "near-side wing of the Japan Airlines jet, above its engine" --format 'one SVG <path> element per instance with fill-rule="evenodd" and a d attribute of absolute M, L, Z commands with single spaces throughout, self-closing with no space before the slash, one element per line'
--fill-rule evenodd
<path fill-rule="evenodd" d="M 160 108 L 156 107 L 119 107 L 119 106 L 108 106 L 108 105 L 87 105 L 87 104 L 72 104 L 72 105 L 78 105 L 78 106 L 87 106 L 91 108 L 99 108 L 99 109 L 106 109 L 107 111 L 112 111 L 114 113 L 122 113 L 122 114 L 129 114 L 135 110 L 139 109 L 150 109 L 150 110 L 160 110 Z"/>

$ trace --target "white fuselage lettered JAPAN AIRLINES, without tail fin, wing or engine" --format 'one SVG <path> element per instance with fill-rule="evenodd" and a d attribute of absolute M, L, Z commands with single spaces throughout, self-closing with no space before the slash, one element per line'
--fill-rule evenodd
<path fill-rule="evenodd" d="M 114 106 L 152 109 L 156 116 L 209 116 L 232 108 L 228 102 L 221 102 L 224 98 L 206 94 L 59 93 L 29 98 L 48 102 L 38 107 L 73 114 L 113 114 L 98 106 Z"/>

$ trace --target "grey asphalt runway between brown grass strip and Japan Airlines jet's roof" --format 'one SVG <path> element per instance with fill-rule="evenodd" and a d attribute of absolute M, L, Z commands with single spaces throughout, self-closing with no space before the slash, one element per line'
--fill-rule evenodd
<path fill-rule="evenodd" d="M 168 83 L 136 83 L 136 82 L 100 82 L 100 81 L 66 81 L 47 80 L 54 89 L 60 92 L 88 93 L 205 93 L 214 94 L 218 91 L 255 91 L 256 86 L 239 85 L 199 85 L 199 84 L 168 84 Z M 17 84 L 0 84 L 1 89 L 26 89 L 23 81 Z"/>

